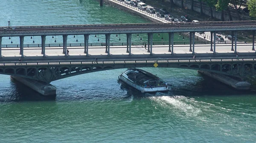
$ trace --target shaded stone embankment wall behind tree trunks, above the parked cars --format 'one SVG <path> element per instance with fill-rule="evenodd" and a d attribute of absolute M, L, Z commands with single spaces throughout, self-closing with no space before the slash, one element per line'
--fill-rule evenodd
<path fill-rule="evenodd" d="M 175 5 L 181 6 L 181 0 L 173 0 L 173 2 L 175 3 Z M 183 6 L 186 9 L 191 9 L 191 0 L 183 0 Z M 209 6 L 207 6 L 206 3 L 202 3 L 202 7 L 203 7 L 203 13 L 210 17 Z M 194 11 L 200 13 L 200 2 L 198 0 L 194 0 Z M 233 21 L 239 20 L 239 16 L 241 17 L 241 20 L 251 20 L 249 14 L 245 14 L 244 12 L 242 12 L 242 13 L 239 13 L 239 16 L 238 16 L 236 11 L 231 8 L 230 8 L 230 14 L 232 16 Z M 219 20 L 221 19 L 221 11 L 216 11 L 215 8 L 212 8 L 212 15 L 216 19 L 219 19 Z M 224 11 L 224 20 L 230 21 L 230 18 L 228 16 L 228 11 L 226 10 Z"/>

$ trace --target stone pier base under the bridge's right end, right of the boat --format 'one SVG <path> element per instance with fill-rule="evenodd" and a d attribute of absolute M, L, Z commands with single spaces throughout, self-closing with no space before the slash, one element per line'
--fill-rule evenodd
<path fill-rule="evenodd" d="M 207 71 L 198 70 L 199 73 L 202 73 L 204 75 L 207 75 L 213 79 L 216 79 L 217 81 L 221 81 L 224 84 L 227 84 L 231 87 L 236 88 L 237 90 L 249 90 L 250 89 L 250 83 L 247 81 L 237 81 L 236 79 L 231 78 L 230 76 L 226 76 L 224 74 L 220 73 L 211 73 Z"/>

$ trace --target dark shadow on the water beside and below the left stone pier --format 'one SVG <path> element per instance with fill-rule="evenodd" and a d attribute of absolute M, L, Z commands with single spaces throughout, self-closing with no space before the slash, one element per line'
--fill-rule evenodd
<path fill-rule="evenodd" d="M 9 99 L 4 101 L 52 101 L 56 98 L 56 95 L 44 96 L 19 81 L 12 78 L 10 80 L 12 87 L 15 88 L 15 94 L 10 95 Z"/>

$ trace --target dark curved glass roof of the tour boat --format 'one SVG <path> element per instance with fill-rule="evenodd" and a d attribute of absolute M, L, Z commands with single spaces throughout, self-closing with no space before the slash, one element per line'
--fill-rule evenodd
<path fill-rule="evenodd" d="M 153 75 L 152 73 L 149 73 L 145 70 L 137 69 L 137 68 L 131 68 L 124 72 L 128 77 L 130 76 L 136 76 L 134 80 L 140 81 L 140 82 L 147 82 L 147 81 L 157 81 L 161 80 L 158 76 Z"/>

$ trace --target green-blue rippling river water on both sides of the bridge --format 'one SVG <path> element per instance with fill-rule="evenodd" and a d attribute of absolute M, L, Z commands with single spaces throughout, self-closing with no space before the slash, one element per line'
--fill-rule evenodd
<path fill-rule="evenodd" d="M 1 26 L 7 21 L 12 25 L 148 22 L 112 6 L 99 7 L 95 0 L 1 4 Z M 31 42 L 29 38 L 26 42 Z M 255 90 L 236 91 L 196 70 L 142 69 L 167 81 L 172 91 L 142 94 L 117 80 L 125 71 L 118 69 L 53 81 L 56 96 L 44 97 L 0 75 L 0 143 L 256 142 Z"/>

